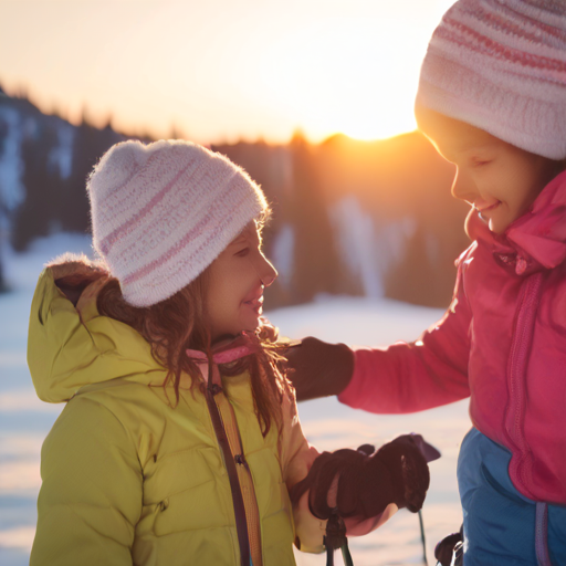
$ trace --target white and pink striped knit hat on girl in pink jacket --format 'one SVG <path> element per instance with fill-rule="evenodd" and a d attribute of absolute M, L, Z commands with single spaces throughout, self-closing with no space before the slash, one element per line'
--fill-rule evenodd
<path fill-rule="evenodd" d="M 459 0 L 436 29 L 417 105 L 566 157 L 566 1 Z"/>

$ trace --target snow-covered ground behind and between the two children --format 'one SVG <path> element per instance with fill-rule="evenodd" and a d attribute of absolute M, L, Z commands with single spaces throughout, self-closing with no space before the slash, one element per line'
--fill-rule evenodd
<path fill-rule="evenodd" d="M 90 252 L 85 237 L 57 234 L 36 241 L 25 254 L 7 253 L 14 291 L 0 295 L 0 564 L 28 564 L 41 485 L 42 441 L 57 418 L 59 406 L 38 400 L 25 363 L 29 307 L 42 265 L 65 251 Z M 269 307 L 269 305 L 268 305 Z M 417 338 L 442 312 L 387 300 L 321 297 L 315 303 L 269 312 L 282 334 L 314 335 L 328 342 L 382 345 Z M 433 462 L 431 488 L 423 509 L 429 564 L 432 549 L 461 523 L 455 483 L 460 441 L 470 428 L 468 403 L 459 402 L 411 416 L 376 416 L 342 406 L 335 398 L 300 405 L 303 428 L 321 450 L 380 444 L 395 436 L 418 431 L 441 451 Z M 419 521 L 406 511 L 381 528 L 350 539 L 356 566 L 422 564 Z M 296 553 L 300 566 L 324 565 L 325 558 Z M 342 557 L 336 556 L 336 564 Z"/>

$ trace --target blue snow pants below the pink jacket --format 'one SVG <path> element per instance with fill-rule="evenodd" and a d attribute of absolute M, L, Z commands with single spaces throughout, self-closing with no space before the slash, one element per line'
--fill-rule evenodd
<path fill-rule="evenodd" d="M 566 565 L 566 506 L 536 503 L 509 476 L 511 452 L 472 428 L 458 459 L 464 566 Z"/>

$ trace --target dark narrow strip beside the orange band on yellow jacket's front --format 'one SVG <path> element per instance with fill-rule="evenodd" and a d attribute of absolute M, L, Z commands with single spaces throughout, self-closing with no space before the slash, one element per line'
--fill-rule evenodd
<path fill-rule="evenodd" d="M 209 384 L 211 384 L 210 379 Z M 238 470 L 235 469 L 232 451 L 230 450 L 230 443 L 228 442 L 228 437 L 222 424 L 222 417 L 220 416 L 220 411 L 218 410 L 218 406 L 214 401 L 214 392 L 219 391 L 220 388 L 218 388 L 218 386 L 211 385 L 210 387 L 207 387 L 207 405 L 218 443 L 224 455 L 226 470 L 228 472 L 228 479 L 230 480 L 232 503 L 235 515 L 235 531 L 238 532 L 238 543 L 240 545 L 241 566 L 250 566 L 250 539 L 248 537 L 248 521 L 245 520 L 242 490 L 240 488 L 240 480 L 238 479 Z"/>

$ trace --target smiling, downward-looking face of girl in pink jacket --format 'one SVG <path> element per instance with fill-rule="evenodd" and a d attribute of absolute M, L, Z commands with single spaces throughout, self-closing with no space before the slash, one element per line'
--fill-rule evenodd
<path fill-rule="evenodd" d="M 478 209 L 492 232 L 504 232 L 523 216 L 558 172 L 556 161 L 483 129 L 426 108 L 416 114 L 420 130 L 457 166 L 452 195 Z"/>

